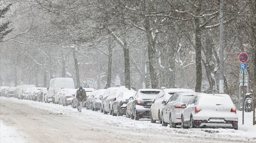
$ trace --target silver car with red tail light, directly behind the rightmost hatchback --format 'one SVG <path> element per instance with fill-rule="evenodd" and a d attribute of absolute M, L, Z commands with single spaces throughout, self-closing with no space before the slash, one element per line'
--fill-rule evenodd
<path fill-rule="evenodd" d="M 175 93 L 167 102 L 162 101 L 164 105 L 161 111 L 162 126 L 167 126 L 168 123 L 170 127 L 181 125 L 181 112 L 195 94 L 194 92 Z"/>

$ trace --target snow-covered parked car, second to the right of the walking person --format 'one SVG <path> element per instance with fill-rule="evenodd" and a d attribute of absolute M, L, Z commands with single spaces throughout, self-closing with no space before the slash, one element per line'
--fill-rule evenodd
<path fill-rule="evenodd" d="M 92 99 L 92 111 L 98 111 L 101 109 L 101 100 L 106 89 L 99 89 L 96 91 Z"/>

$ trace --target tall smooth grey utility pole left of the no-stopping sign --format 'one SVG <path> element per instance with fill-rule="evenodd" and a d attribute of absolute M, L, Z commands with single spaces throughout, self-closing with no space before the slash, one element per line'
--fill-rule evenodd
<path fill-rule="evenodd" d="M 220 93 L 224 93 L 223 84 L 224 84 L 224 44 L 223 44 L 223 33 L 224 33 L 224 12 L 223 12 L 223 1 L 220 0 Z"/>

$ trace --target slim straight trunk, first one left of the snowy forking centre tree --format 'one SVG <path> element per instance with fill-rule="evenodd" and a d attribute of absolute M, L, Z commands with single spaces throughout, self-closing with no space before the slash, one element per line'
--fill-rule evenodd
<path fill-rule="evenodd" d="M 108 41 L 108 49 L 109 49 L 109 63 L 107 66 L 107 85 L 106 87 L 109 88 L 111 87 L 111 68 L 112 68 L 112 47 L 111 47 L 111 37 L 109 37 Z"/>

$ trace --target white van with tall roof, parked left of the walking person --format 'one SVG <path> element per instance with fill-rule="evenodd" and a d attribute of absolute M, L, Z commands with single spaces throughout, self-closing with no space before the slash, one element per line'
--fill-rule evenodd
<path fill-rule="evenodd" d="M 55 94 L 60 88 L 75 89 L 74 80 L 72 78 L 58 77 L 50 80 L 48 92 L 45 96 L 45 101 L 50 103 L 55 99 Z M 54 101 L 53 101 L 54 102 Z"/>

